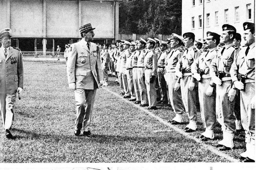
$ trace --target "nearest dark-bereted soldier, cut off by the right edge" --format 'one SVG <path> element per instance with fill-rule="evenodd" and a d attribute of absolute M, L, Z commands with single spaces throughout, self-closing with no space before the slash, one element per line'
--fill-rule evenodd
<path fill-rule="evenodd" d="M 241 162 L 255 162 L 255 24 L 245 22 L 244 41 L 230 75 L 234 87 L 240 90 L 242 126 L 245 130 L 246 152 L 240 154 Z"/>

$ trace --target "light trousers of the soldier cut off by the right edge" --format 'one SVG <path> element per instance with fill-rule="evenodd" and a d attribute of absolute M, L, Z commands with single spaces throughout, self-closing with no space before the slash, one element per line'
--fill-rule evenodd
<path fill-rule="evenodd" d="M 255 83 L 246 83 L 245 91 L 241 94 L 241 120 L 245 130 L 245 142 L 255 145 L 255 109 L 251 107 L 252 97 L 255 95 Z"/>

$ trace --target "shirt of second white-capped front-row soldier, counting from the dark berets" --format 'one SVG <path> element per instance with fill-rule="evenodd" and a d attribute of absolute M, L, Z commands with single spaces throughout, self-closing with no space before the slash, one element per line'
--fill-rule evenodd
<path fill-rule="evenodd" d="M 152 75 L 157 74 L 157 55 L 154 49 L 148 51 L 144 59 L 145 69 L 152 69 Z"/>

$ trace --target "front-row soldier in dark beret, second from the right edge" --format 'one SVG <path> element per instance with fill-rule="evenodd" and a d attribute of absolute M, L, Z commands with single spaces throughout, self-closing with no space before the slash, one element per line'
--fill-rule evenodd
<path fill-rule="evenodd" d="M 223 139 L 218 144 L 212 144 L 219 150 L 230 150 L 234 147 L 234 133 L 236 132 L 236 117 L 234 116 L 234 98 L 236 90 L 232 88 L 230 77 L 231 65 L 236 59 L 238 48 L 233 45 L 236 35 L 234 26 L 224 24 L 220 41 L 225 43 L 210 64 L 210 75 L 216 84 L 216 118 L 222 126 Z"/>

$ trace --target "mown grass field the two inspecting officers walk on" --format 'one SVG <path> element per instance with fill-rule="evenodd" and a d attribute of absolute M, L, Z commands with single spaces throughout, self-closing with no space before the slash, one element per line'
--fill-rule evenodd
<path fill-rule="evenodd" d="M 222 138 L 219 125 L 216 140 L 198 142 L 204 131 L 200 119 L 198 132 L 184 135 L 180 131 L 186 125 L 178 130 L 168 125 L 174 116 L 169 107 L 145 111 L 116 95 L 120 89 L 113 81 L 110 77 L 109 86 L 96 94 L 91 123 L 96 138 L 76 137 L 74 92 L 68 89 L 65 64 L 25 61 L 24 91 L 11 130 L 16 139 L 1 133 L 0 162 L 231 162 L 227 157 L 243 152 L 242 133 L 236 134 L 233 150 L 218 152 L 210 144 Z"/>

